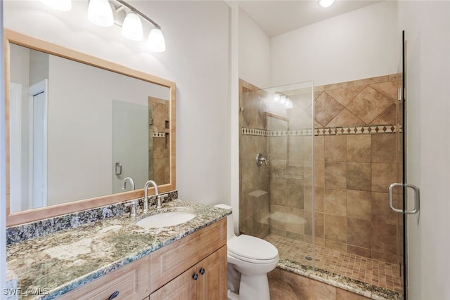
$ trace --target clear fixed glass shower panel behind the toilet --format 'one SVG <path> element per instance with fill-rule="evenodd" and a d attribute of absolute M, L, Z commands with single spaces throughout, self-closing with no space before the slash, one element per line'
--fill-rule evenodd
<path fill-rule="evenodd" d="M 240 230 L 313 266 L 313 85 L 257 89 L 241 81 Z M 262 162 L 258 164 L 258 158 Z"/>

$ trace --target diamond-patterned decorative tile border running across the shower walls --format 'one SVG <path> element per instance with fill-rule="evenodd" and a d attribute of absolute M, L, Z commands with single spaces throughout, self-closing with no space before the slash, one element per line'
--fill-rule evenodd
<path fill-rule="evenodd" d="M 375 134 L 402 132 L 403 127 L 397 124 L 375 126 L 326 127 L 314 129 L 314 136 L 335 136 L 345 134 Z M 269 131 L 265 129 L 242 128 L 244 136 L 311 136 L 312 129 Z"/>

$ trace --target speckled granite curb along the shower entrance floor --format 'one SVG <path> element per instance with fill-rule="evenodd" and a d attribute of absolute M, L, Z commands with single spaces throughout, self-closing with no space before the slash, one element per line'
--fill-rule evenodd
<path fill-rule="evenodd" d="M 290 261 L 289 259 L 280 259 L 277 267 L 306 276 L 307 278 L 324 282 L 328 285 L 333 285 L 334 287 L 346 289 L 349 292 L 354 292 L 374 300 L 403 299 L 403 295 L 397 292 L 392 292 L 388 289 L 383 289 L 382 287 L 375 287 L 374 285 L 368 285 L 367 283 L 330 273 L 319 268 L 313 269 L 311 266 L 302 266 L 302 264 L 296 263 L 295 261 Z"/>

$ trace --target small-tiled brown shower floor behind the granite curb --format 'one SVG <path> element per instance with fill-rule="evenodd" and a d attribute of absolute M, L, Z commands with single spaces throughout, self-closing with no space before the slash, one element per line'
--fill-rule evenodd
<path fill-rule="evenodd" d="M 306 242 L 270 234 L 265 240 L 274 244 L 282 259 L 312 266 L 313 261 L 305 257 L 312 256 L 312 245 Z M 314 267 L 330 273 L 359 280 L 375 287 L 403 293 L 403 280 L 399 275 L 399 266 L 364 256 L 339 252 L 326 247 L 316 246 Z"/>

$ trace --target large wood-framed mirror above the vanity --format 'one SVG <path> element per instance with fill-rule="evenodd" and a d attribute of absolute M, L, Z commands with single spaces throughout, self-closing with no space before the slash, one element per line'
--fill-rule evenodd
<path fill-rule="evenodd" d="M 174 82 L 4 37 L 8 226 L 175 190 Z"/>

